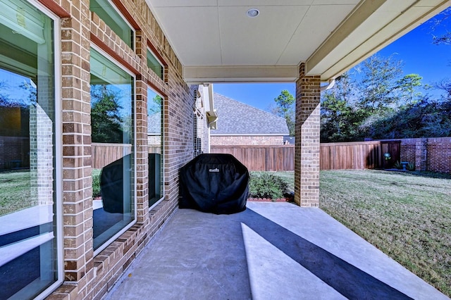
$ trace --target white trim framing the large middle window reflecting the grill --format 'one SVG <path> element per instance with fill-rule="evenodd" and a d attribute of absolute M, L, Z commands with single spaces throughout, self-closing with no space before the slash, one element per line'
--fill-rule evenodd
<path fill-rule="evenodd" d="M 116 61 L 116 59 L 114 59 L 112 56 L 110 56 L 109 54 L 106 53 L 106 51 L 102 50 L 99 46 L 95 45 L 95 44 L 91 44 L 91 48 L 94 49 L 95 51 L 99 52 L 99 54 L 101 54 L 102 56 L 105 56 L 109 61 L 111 61 L 112 63 L 114 63 L 118 68 L 121 68 L 122 70 L 124 70 L 126 73 L 128 73 L 128 75 L 133 77 L 133 140 L 136 141 L 136 75 L 133 74 L 130 70 L 128 70 L 127 68 L 125 68 L 123 65 L 121 65 L 121 63 L 119 63 L 118 61 Z M 132 227 L 133 225 L 135 225 L 135 223 L 137 222 L 137 191 L 136 191 L 136 186 L 137 186 L 137 180 L 136 180 L 136 175 L 137 175 L 137 171 L 136 171 L 136 142 L 133 144 L 133 164 L 135 165 L 134 168 L 134 174 L 133 174 L 133 185 L 135 185 L 135 188 L 133 189 L 133 204 L 135 205 L 134 208 L 134 215 L 135 215 L 135 219 L 132 220 L 131 223 L 129 223 L 128 225 L 126 225 L 125 227 L 123 227 L 122 230 L 120 230 L 118 233 L 116 233 L 116 235 L 113 235 L 113 237 L 111 237 L 110 239 L 108 239 L 106 242 L 104 242 L 104 244 L 101 244 L 101 246 L 99 246 L 99 248 L 94 250 L 94 256 L 97 256 L 101 251 L 103 251 L 107 246 L 109 246 L 112 242 L 114 242 L 116 239 L 118 239 L 118 237 L 120 237 L 124 232 L 126 232 L 127 230 L 130 229 L 130 227 Z"/>

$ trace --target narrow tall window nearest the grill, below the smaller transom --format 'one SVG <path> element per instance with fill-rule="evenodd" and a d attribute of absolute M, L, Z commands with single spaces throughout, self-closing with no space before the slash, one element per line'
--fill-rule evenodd
<path fill-rule="evenodd" d="M 149 208 L 163 197 L 163 98 L 147 89 L 147 141 L 149 144 Z"/>

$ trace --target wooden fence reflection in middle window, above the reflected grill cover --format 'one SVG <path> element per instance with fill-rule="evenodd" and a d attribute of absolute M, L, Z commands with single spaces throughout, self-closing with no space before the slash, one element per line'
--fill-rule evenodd
<path fill-rule="evenodd" d="M 132 153 L 132 145 L 92 143 L 91 153 L 92 168 L 101 169 L 104 168 L 105 165 Z"/>

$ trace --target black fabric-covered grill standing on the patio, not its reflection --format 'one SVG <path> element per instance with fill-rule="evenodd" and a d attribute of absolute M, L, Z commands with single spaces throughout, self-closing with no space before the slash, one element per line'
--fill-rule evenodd
<path fill-rule="evenodd" d="M 246 209 L 249 172 L 230 154 L 201 154 L 180 170 L 180 208 L 216 214 Z"/>

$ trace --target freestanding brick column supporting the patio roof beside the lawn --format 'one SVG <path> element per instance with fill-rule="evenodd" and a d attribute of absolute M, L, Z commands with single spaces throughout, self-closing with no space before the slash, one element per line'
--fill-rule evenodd
<path fill-rule="evenodd" d="M 296 82 L 295 202 L 300 206 L 319 206 L 319 75 L 306 76 L 299 68 Z"/>

